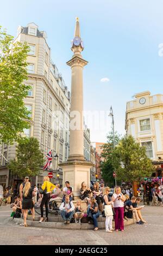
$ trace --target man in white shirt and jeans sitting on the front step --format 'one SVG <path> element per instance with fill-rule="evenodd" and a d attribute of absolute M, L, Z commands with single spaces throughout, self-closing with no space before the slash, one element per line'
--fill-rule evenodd
<path fill-rule="evenodd" d="M 64 219 L 64 223 L 70 224 L 70 221 L 74 215 L 74 204 L 70 201 L 69 195 L 65 196 L 65 201 L 60 205 L 60 215 Z"/>

